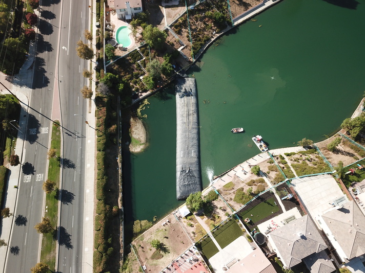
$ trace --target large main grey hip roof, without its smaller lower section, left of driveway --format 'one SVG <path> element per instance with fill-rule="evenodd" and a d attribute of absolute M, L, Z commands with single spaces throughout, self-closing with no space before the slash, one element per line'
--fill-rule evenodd
<path fill-rule="evenodd" d="M 276 246 L 278 256 L 289 268 L 327 248 L 308 215 L 281 226 L 269 233 L 269 236 Z"/>

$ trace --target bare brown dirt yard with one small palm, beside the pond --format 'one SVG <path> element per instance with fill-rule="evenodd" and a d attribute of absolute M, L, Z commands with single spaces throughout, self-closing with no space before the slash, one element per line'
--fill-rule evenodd
<path fill-rule="evenodd" d="M 151 256 L 155 251 L 151 246 L 151 241 L 155 239 L 163 243 L 167 249 L 166 252 L 162 253 L 163 258 L 159 260 L 151 260 Z M 191 245 L 191 240 L 175 216 L 169 214 L 165 219 L 135 239 L 132 244 L 135 246 L 141 264 L 146 265 L 147 271 L 160 272 L 172 260 L 184 253 Z"/>

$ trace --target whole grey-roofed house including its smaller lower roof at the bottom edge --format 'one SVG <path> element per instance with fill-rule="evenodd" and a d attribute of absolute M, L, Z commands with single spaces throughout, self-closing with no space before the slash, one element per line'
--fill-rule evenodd
<path fill-rule="evenodd" d="M 303 262 L 313 273 L 330 273 L 336 270 L 324 252 L 327 249 L 325 240 L 308 215 L 280 226 L 268 236 L 273 251 L 285 267 L 291 268 Z"/>

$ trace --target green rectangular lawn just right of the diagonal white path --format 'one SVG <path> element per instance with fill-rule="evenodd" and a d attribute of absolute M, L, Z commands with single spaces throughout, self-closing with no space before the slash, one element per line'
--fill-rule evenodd
<path fill-rule="evenodd" d="M 213 232 L 213 236 L 221 248 L 225 248 L 242 234 L 244 233 L 234 219 L 230 219 Z"/>

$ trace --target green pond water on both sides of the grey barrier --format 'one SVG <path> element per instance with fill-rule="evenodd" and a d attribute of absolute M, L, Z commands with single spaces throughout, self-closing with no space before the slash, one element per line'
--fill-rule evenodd
<path fill-rule="evenodd" d="M 223 36 L 189 70 L 198 89 L 203 187 L 259 152 L 254 134 L 270 149 L 296 146 L 324 139 L 352 115 L 365 91 L 365 1 L 358 2 L 350 9 L 283 0 Z M 124 158 L 127 222 L 162 217 L 182 203 L 173 92 L 149 99 L 149 147 Z M 233 127 L 246 132 L 233 134 Z"/>

